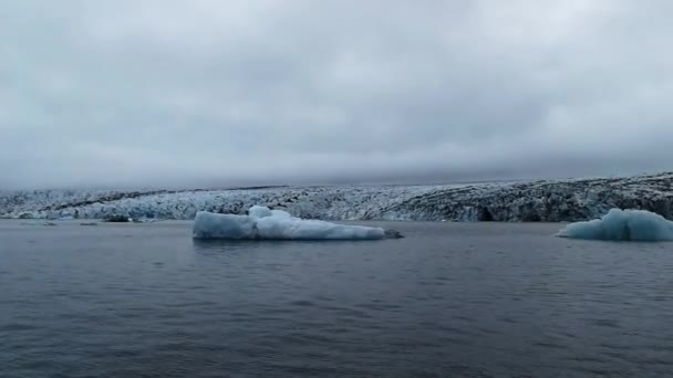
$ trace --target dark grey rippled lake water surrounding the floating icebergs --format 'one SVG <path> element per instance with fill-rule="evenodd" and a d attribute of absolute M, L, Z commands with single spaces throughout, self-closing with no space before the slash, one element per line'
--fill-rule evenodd
<path fill-rule="evenodd" d="M 673 244 L 386 225 L 407 238 L 0 221 L 0 377 L 673 376 Z"/>

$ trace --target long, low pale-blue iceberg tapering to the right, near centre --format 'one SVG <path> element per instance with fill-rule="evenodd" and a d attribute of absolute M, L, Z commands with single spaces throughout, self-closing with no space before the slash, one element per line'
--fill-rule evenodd
<path fill-rule="evenodd" d="M 260 206 L 250 208 L 247 216 L 199 211 L 194 220 L 193 235 L 195 239 L 232 240 L 376 240 L 400 237 L 382 228 L 304 220 Z"/>

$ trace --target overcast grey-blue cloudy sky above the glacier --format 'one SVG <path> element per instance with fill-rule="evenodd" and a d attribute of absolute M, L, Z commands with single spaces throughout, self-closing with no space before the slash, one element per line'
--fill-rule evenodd
<path fill-rule="evenodd" d="M 0 189 L 673 168 L 673 2 L 8 0 Z"/>

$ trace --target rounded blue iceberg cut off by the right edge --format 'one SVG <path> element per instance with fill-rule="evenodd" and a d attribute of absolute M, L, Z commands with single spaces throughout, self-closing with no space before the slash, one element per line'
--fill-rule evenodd
<path fill-rule="evenodd" d="M 673 222 L 645 210 L 612 209 L 601 219 L 568 224 L 558 235 L 614 241 L 673 241 Z"/>

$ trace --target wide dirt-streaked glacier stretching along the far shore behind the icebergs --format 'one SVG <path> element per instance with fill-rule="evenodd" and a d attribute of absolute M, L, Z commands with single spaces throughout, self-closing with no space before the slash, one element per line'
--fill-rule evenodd
<path fill-rule="evenodd" d="M 1 191 L 0 218 L 194 220 L 255 204 L 302 219 L 576 222 L 612 208 L 673 219 L 673 172 L 459 185 L 361 185 L 186 190 Z"/>

